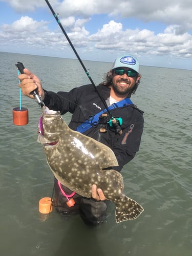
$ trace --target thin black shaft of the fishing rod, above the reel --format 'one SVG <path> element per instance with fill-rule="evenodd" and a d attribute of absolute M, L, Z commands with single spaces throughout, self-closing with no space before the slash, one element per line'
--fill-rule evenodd
<path fill-rule="evenodd" d="M 67 38 L 67 40 L 68 40 L 68 42 L 69 42 L 69 44 L 70 44 L 72 50 L 74 51 L 75 55 L 77 56 L 77 59 L 78 59 L 79 62 L 80 62 L 80 64 L 81 64 L 83 70 L 86 72 L 86 74 L 87 74 L 88 78 L 90 79 L 90 81 L 91 81 L 93 87 L 95 88 L 97 94 L 99 95 L 100 99 L 102 100 L 102 102 L 103 102 L 103 104 L 104 104 L 104 106 L 105 106 L 106 111 L 108 112 L 108 114 L 110 115 L 110 117 L 111 117 L 112 119 L 115 119 L 115 118 L 112 117 L 112 114 L 110 113 L 110 111 L 109 111 L 109 109 L 108 109 L 108 105 L 106 104 L 105 100 L 104 100 L 103 97 L 100 95 L 99 91 L 97 90 L 97 87 L 95 86 L 95 83 L 94 83 L 94 81 L 92 80 L 92 78 L 91 78 L 91 76 L 90 76 L 88 70 L 87 70 L 86 67 L 84 66 L 84 64 L 83 64 L 81 58 L 79 57 L 77 51 L 75 50 L 75 47 L 73 46 L 73 44 L 72 44 L 72 42 L 71 42 L 71 40 L 70 40 L 68 34 L 66 33 L 65 29 L 64 29 L 63 26 L 61 25 L 60 20 L 59 20 L 59 18 L 58 18 L 58 15 L 54 12 L 54 10 L 53 10 L 52 6 L 50 5 L 49 1 L 48 1 L 48 0 L 45 0 L 45 1 L 46 1 L 47 5 L 49 6 L 49 9 L 51 10 L 53 16 L 55 17 L 55 19 L 56 19 L 56 21 L 57 21 L 59 27 L 61 28 L 63 34 L 66 36 L 66 38 Z"/>

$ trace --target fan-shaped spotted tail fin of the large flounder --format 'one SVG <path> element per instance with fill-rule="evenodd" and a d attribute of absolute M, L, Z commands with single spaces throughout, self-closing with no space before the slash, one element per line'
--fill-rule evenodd
<path fill-rule="evenodd" d="M 131 198 L 121 195 L 120 199 L 115 202 L 116 205 L 116 222 L 122 222 L 127 220 L 134 220 L 143 211 L 143 207 Z"/>

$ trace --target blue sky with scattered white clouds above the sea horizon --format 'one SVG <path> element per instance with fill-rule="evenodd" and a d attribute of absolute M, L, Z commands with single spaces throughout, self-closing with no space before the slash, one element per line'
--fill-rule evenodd
<path fill-rule="evenodd" d="M 191 0 L 49 0 L 82 60 L 192 70 Z M 0 0 L 0 51 L 76 58 L 44 0 Z"/>

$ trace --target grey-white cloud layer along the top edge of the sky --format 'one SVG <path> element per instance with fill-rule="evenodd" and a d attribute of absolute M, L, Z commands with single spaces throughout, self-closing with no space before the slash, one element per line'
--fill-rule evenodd
<path fill-rule="evenodd" d="M 0 0 L 8 2 L 17 12 L 35 11 L 47 7 L 45 1 Z M 107 14 L 115 17 L 135 17 L 143 22 L 160 22 L 167 26 L 178 25 L 177 33 L 192 29 L 191 0 L 51 0 L 50 4 L 62 17 L 78 16 L 88 18 L 95 14 Z"/>

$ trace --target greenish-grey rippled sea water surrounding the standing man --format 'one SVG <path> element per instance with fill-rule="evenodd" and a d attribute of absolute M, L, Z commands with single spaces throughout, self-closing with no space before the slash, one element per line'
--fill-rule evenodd
<path fill-rule="evenodd" d="M 51 197 L 53 175 L 37 143 L 41 110 L 22 97 L 29 124 L 13 124 L 19 106 L 15 63 L 39 76 L 43 87 L 67 91 L 89 83 L 78 60 L 0 52 L 0 250 L 1 255 L 192 255 L 192 71 L 141 66 L 141 83 L 133 102 L 144 111 L 140 151 L 123 167 L 124 193 L 144 212 L 132 221 L 90 228 L 79 216 L 61 218 L 38 212 L 38 201 Z M 83 61 L 95 84 L 112 63 Z M 70 115 L 63 117 L 69 122 Z"/>

